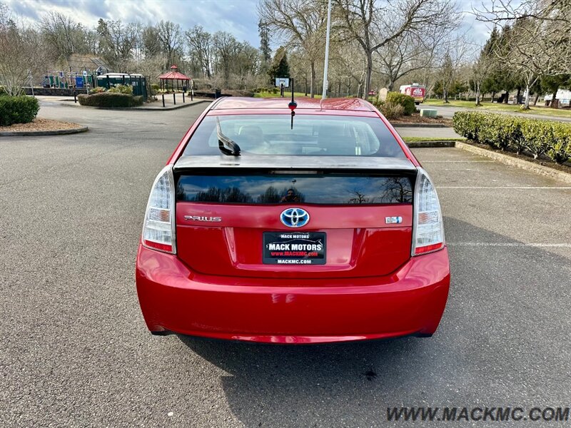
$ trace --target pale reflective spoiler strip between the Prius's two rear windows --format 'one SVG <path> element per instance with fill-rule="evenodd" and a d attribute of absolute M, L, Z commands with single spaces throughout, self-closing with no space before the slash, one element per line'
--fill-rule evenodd
<path fill-rule="evenodd" d="M 411 172 L 417 170 L 408 158 L 374 156 L 181 156 L 173 166 L 175 171 L 193 168 L 404 170 Z"/>

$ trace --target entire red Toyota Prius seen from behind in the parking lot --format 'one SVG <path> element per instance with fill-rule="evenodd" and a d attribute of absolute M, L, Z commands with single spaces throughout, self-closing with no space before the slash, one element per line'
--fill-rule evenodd
<path fill-rule="evenodd" d="M 293 113 L 283 98 L 220 98 L 158 173 L 136 260 L 148 330 L 433 335 L 450 266 L 428 173 L 366 101 L 304 98 Z"/>

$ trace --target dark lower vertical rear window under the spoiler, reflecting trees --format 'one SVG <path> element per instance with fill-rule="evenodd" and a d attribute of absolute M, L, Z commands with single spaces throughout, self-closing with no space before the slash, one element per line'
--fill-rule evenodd
<path fill-rule="evenodd" d="M 412 203 L 403 175 L 247 174 L 181 175 L 176 199 L 204 203 L 315 203 L 326 205 Z"/>

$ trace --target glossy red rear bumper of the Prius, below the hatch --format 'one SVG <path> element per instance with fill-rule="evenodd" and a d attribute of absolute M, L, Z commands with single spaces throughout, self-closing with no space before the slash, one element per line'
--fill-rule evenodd
<path fill-rule="evenodd" d="M 139 246 L 136 284 L 151 332 L 275 343 L 432 335 L 442 317 L 448 250 L 385 277 L 340 280 L 221 277 Z"/>

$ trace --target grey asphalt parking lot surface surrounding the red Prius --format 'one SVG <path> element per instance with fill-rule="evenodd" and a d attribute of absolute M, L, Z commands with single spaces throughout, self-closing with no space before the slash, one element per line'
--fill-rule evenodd
<path fill-rule="evenodd" d="M 400 427 L 387 407 L 570 405 L 571 188 L 455 148 L 415 149 L 452 267 L 434 337 L 151 336 L 134 285 L 143 211 L 205 106 L 46 103 L 42 117 L 91 131 L 0 138 L 1 427 Z"/>

